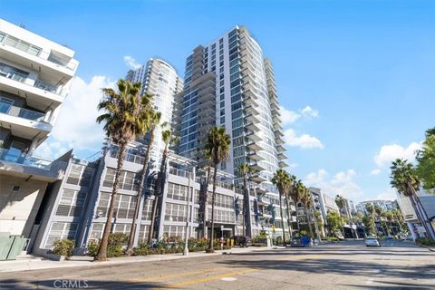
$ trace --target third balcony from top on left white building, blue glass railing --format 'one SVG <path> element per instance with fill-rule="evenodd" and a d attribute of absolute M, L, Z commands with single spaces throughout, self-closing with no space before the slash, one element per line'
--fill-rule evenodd
<path fill-rule="evenodd" d="M 44 121 L 45 115 L 39 111 L 15 107 L 0 102 L 0 122 L 5 128 L 10 128 L 14 136 L 28 140 L 43 139 L 53 129 L 53 125 Z"/>

